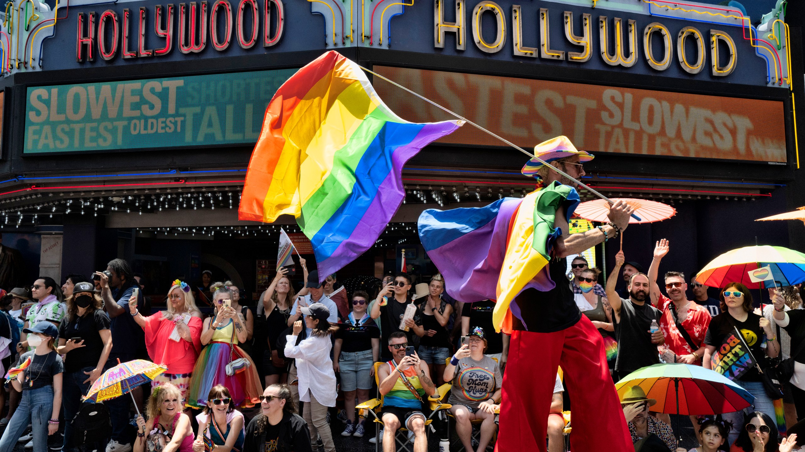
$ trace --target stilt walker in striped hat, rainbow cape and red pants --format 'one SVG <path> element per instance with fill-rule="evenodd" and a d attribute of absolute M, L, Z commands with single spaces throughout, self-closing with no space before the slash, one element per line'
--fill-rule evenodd
<path fill-rule="evenodd" d="M 574 179 L 584 176 L 582 165 L 593 158 L 566 137 L 539 144 L 535 155 Z M 614 203 L 609 224 L 570 235 L 568 220 L 579 203 L 576 183 L 536 159 L 522 172 L 539 175 L 547 186 L 524 199 L 430 209 L 419 218 L 423 246 L 448 293 L 464 302 L 497 298 L 496 327 L 511 334 L 496 450 L 545 452 L 558 366 L 573 401 L 571 450 L 634 450 L 603 339 L 580 313 L 565 276 L 565 257 L 618 236 L 633 209 Z"/>

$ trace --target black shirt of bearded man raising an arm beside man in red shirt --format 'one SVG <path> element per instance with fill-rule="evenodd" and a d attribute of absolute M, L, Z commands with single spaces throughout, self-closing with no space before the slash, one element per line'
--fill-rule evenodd
<path fill-rule="evenodd" d="M 646 300 L 642 305 L 632 302 L 631 298 L 621 298 L 621 321 L 615 322 L 615 338 L 617 339 L 617 372 L 633 372 L 651 364 L 659 364 L 657 344 L 651 343 L 651 321 L 663 315 L 660 310 L 651 306 Z"/>

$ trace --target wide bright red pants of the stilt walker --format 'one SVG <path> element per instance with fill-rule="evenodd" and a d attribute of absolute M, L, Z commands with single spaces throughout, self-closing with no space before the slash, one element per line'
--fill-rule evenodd
<path fill-rule="evenodd" d="M 564 371 L 572 400 L 573 452 L 634 452 L 604 340 L 588 318 L 555 333 L 514 331 L 509 346 L 500 414 L 498 452 L 545 452 L 556 368 Z"/>

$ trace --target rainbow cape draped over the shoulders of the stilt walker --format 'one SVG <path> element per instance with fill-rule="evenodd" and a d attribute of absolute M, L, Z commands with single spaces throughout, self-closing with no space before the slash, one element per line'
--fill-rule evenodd
<path fill-rule="evenodd" d="M 495 299 L 493 323 L 509 330 L 507 312 L 522 320 L 511 301 L 523 290 L 551 290 L 548 276 L 556 209 L 569 220 L 579 204 L 576 189 L 551 183 L 525 198 L 504 198 L 485 208 L 427 209 L 419 216 L 419 240 L 460 302 Z M 510 318 L 509 318 L 510 320 Z"/>

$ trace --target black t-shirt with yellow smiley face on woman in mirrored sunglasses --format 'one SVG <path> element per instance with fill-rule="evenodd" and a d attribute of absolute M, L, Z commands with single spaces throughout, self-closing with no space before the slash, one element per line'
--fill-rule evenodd
<path fill-rule="evenodd" d="M 789 311 L 790 313 L 791 311 Z M 766 332 L 760 327 L 760 319 L 762 317 L 753 312 L 747 313 L 744 322 L 738 322 L 728 312 L 718 314 L 710 321 L 710 327 L 707 329 L 707 335 L 704 336 L 704 343 L 716 347 L 716 350 L 724 343 L 725 336 L 733 333 L 733 325 L 741 331 L 744 336 L 746 345 L 749 346 L 749 351 L 752 351 L 754 359 L 758 361 L 761 368 L 766 368 L 768 360 L 766 359 L 766 349 L 761 347 L 761 344 L 766 339 Z M 786 329 L 786 331 L 788 331 Z M 795 347 L 793 339 L 791 347 Z M 758 367 L 753 366 L 741 378 L 741 381 L 761 381 Z"/>

